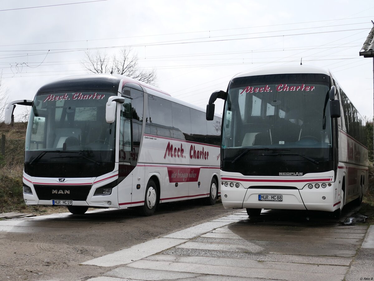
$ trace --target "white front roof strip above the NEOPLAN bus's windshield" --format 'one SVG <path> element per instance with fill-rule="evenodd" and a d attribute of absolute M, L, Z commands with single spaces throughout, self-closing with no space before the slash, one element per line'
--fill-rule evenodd
<path fill-rule="evenodd" d="M 258 68 L 250 71 L 245 71 L 236 74 L 232 79 L 238 77 L 246 77 L 246 76 L 258 76 L 258 75 L 269 75 L 269 74 L 285 74 L 285 73 L 321 73 L 329 75 L 329 72 L 320 67 L 314 66 L 305 66 L 305 65 L 298 65 L 298 66 L 273 66 L 273 67 L 263 67 Z"/>

